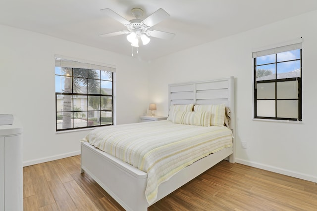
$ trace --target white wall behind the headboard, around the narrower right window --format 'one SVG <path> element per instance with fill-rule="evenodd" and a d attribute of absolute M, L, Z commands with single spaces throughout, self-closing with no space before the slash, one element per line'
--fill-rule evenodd
<path fill-rule="evenodd" d="M 236 161 L 317 182 L 317 11 L 152 61 L 149 101 L 167 115 L 167 84 L 236 77 Z M 253 118 L 252 50 L 303 37 L 303 122 Z M 247 149 L 241 148 L 247 142 Z"/>

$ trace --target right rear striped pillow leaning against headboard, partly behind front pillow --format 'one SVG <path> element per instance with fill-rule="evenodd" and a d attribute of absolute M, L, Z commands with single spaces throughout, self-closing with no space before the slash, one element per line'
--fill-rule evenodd
<path fill-rule="evenodd" d="M 195 112 L 211 111 L 211 126 L 223 126 L 225 115 L 225 104 L 219 105 L 195 105 Z"/>

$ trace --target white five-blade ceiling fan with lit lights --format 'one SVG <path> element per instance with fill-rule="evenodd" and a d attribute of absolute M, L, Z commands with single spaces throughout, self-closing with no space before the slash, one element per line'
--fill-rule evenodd
<path fill-rule="evenodd" d="M 131 9 L 131 13 L 135 19 L 130 21 L 126 20 L 109 8 L 101 9 L 100 11 L 104 12 L 107 16 L 119 21 L 127 27 L 127 30 L 102 34 L 100 35 L 101 37 L 127 35 L 127 40 L 131 42 L 131 45 L 134 47 L 139 47 L 139 39 L 142 41 L 143 45 L 146 45 L 151 40 L 149 37 L 171 40 L 175 36 L 173 33 L 150 29 L 152 26 L 158 24 L 170 16 L 165 10 L 161 8 L 144 20 L 139 19 L 143 15 L 143 10 L 140 8 L 133 8 Z"/>

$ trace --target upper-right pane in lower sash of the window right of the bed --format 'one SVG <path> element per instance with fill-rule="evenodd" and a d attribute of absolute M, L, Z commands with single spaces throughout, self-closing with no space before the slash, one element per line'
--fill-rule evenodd
<path fill-rule="evenodd" d="M 297 99 L 298 81 L 277 82 L 277 99 Z"/>

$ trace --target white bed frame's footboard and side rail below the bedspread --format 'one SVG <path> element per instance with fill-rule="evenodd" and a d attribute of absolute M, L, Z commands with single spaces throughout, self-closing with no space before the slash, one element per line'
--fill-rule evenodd
<path fill-rule="evenodd" d="M 182 169 L 168 181 L 159 185 L 158 198 L 155 202 L 232 153 L 232 147 L 225 148 Z M 122 162 L 87 142 L 81 144 L 81 168 L 82 172 L 86 171 L 125 210 L 147 211 L 150 206 L 145 198 L 147 173 Z"/>

